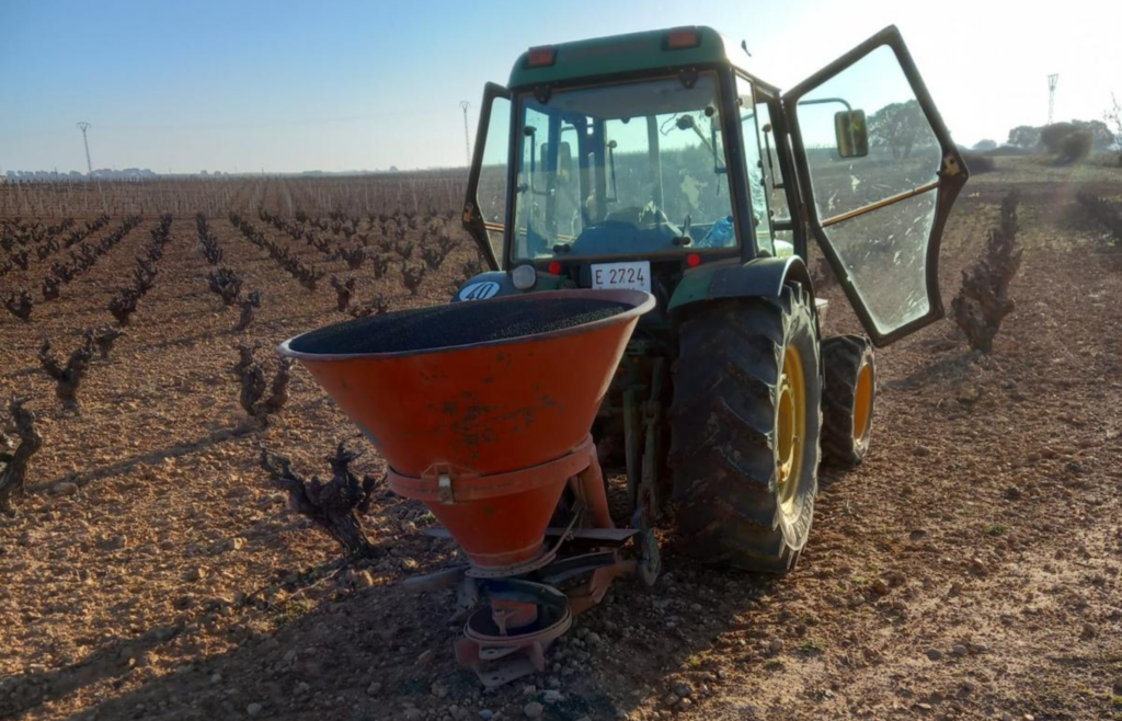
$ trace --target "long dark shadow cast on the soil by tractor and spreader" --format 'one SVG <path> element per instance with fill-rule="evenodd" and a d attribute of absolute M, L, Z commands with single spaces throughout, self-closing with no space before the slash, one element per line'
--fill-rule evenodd
<path fill-rule="evenodd" d="M 380 526 L 378 536 L 371 533 L 377 557 L 365 572 L 361 565 L 342 570 L 339 562 L 321 566 L 302 582 L 319 589 L 306 597 L 314 602 L 302 600 L 297 582 L 280 597 L 258 593 L 249 603 L 200 609 L 171 631 L 151 629 L 73 666 L 7 682 L 15 691 L 0 703 L 0 717 L 95 686 L 83 695 L 113 697 L 71 718 L 138 718 L 138 710 L 142 718 L 241 718 L 249 704 L 261 704 L 261 717 L 272 719 L 399 719 L 410 708 L 442 718 L 452 704 L 468 711 L 454 718 L 478 718 L 485 709 L 522 718 L 522 706 L 537 700 L 545 703 L 546 720 L 613 719 L 662 709 L 681 681 L 698 690 L 719 685 L 719 664 L 730 668 L 730 658 L 737 665 L 769 663 L 769 639 L 787 622 L 769 604 L 800 583 L 699 565 L 668 545 L 653 588 L 637 577 L 618 579 L 550 650 L 545 673 L 484 691 L 454 659 L 462 628 L 462 619 L 453 619 L 454 593 L 414 594 L 401 585 L 454 562 L 451 544 L 376 523 L 413 510 L 383 494 L 365 524 Z M 356 586 L 356 571 L 373 574 L 375 585 Z M 795 576 L 812 581 L 801 567 Z M 197 650 L 208 646 L 200 630 L 206 628 L 213 629 L 211 639 L 220 632 L 233 641 L 228 650 Z M 175 671 L 157 675 L 145 671 L 146 662 L 129 662 L 141 657 L 166 659 Z M 536 687 L 533 697 L 527 685 Z M 557 685 L 562 697 L 551 703 L 545 691 Z"/>

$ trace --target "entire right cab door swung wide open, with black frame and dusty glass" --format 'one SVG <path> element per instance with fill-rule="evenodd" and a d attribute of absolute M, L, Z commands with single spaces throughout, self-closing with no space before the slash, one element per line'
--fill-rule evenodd
<path fill-rule="evenodd" d="M 810 229 L 873 342 L 942 317 L 939 240 L 968 175 L 900 31 L 783 95 Z"/>

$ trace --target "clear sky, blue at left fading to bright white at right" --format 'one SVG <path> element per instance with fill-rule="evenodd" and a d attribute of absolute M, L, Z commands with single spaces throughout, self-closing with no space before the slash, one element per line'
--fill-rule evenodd
<path fill-rule="evenodd" d="M 1122 2 L 0 0 L 0 169 L 158 173 L 463 164 L 460 100 L 530 45 L 677 25 L 747 39 L 788 87 L 890 24 L 956 139 L 1122 99 Z M 1010 17 L 1010 16 L 1013 17 Z M 475 108 L 470 115 L 475 135 Z"/>

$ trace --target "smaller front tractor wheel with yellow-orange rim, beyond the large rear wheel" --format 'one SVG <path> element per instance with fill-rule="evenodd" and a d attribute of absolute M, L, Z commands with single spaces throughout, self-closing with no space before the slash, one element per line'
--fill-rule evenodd
<path fill-rule="evenodd" d="M 876 359 L 863 335 L 822 341 L 822 460 L 836 468 L 861 464 L 868 453 L 876 403 Z"/>

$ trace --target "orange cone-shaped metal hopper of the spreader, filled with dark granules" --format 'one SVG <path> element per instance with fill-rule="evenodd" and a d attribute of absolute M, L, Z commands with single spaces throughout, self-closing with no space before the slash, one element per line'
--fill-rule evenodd
<path fill-rule="evenodd" d="M 481 570 L 542 554 L 638 316 L 637 290 L 563 290 L 402 311 L 285 341 Z M 574 453 L 574 450 L 577 452 Z"/>

